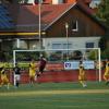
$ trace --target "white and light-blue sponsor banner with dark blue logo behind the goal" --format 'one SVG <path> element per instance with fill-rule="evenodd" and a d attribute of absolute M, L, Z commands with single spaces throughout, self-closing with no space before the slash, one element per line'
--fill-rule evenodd
<path fill-rule="evenodd" d="M 77 70 L 80 61 L 64 62 L 64 70 Z M 94 61 L 83 61 L 85 69 L 95 69 Z"/>

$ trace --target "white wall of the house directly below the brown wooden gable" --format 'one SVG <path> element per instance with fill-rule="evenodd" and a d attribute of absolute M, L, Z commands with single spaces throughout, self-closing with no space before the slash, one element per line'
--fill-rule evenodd
<path fill-rule="evenodd" d="M 72 44 L 71 49 L 85 48 L 86 43 L 94 43 L 94 47 L 98 47 L 100 37 L 77 37 L 69 38 L 69 44 Z M 43 46 L 45 49 L 52 49 L 53 43 L 66 43 L 66 38 L 44 38 Z"/>

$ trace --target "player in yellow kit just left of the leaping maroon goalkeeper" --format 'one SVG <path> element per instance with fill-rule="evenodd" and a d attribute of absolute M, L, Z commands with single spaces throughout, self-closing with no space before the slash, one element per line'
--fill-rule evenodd
<path fill-rule="evenodd" d="M 29 83 L 31 84 L 35 82 L 35 77 L 36 77 L 36 64 L 35 64 L 35 60 L 32 60 L 32 62 L 29 63 Z"/>

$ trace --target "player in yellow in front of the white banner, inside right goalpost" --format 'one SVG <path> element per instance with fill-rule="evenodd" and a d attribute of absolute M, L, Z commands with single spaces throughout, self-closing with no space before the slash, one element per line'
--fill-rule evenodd
<path fill-rule="evenodd" d="M 85 69 L 83 65 L 80 65 L 80 74 L 78 74 L 78 82 L 82 84 L 83 87 L 86 87 L 86 74 Z"/>

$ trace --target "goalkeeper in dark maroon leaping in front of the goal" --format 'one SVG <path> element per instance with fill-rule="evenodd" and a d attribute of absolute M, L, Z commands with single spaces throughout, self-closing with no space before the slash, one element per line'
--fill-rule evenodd
<path fill-rule="evenodd" d="M 37 74 L 37 76 L 40 76 L 40 74 L 44 73 L 44 70 L 45 70 L 45 68 L 46 68 L 46 63 L 47 63 L 46 58 L 45 58 L 43 55 L 40 55 L 40 60 L 39 60 L 39 73 Z"/>

